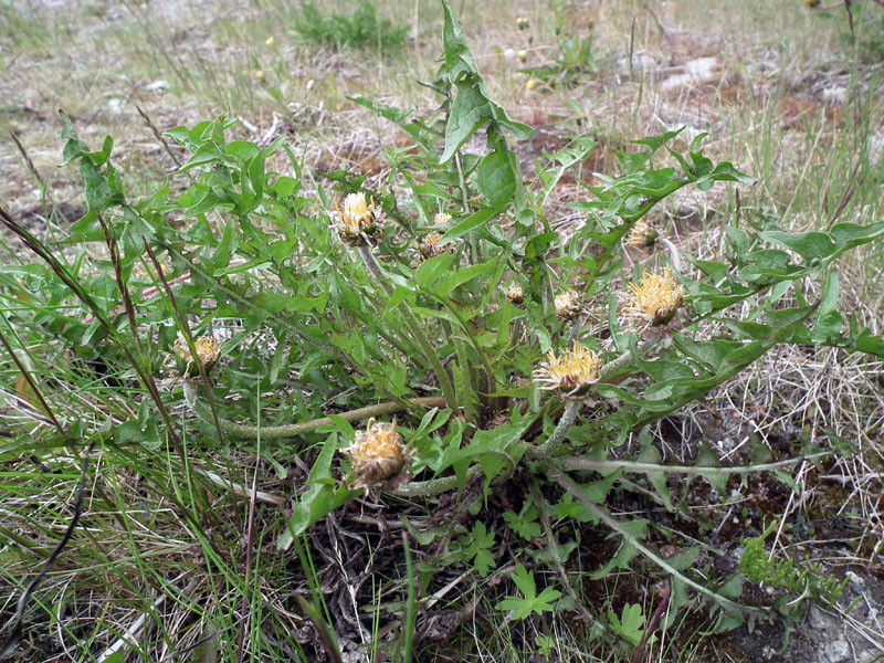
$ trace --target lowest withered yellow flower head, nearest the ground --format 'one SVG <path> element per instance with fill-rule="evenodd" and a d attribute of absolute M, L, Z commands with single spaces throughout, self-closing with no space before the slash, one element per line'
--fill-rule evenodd
<path fill-rule="evenodd" d="M 396 423 L 369 419 L 366 430 L 356 431 L 354 443 L 340 452 L 352 461 L 354 488 L 390 488 L 411 477 L 411 451 L 396 431 Z"/>

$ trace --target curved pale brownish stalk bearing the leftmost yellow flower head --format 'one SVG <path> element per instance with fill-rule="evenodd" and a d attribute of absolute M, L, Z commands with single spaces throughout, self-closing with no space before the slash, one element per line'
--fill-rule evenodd
<path fill-rule="evenodd" d="M 213 423 L 214 418 L 212 417 L 212 412 L 210 411 L 209 408 L 207 408 L 199 401 L 199 397 L 193 383 L 191 381 L 187 381 L 185 382 L 183 388 L 185 388 L 185 399 L 187 400 L 188 404 L 193 410 L 193 412 L 197 414 L 197 417 L 199 417 L 203 421 Z M 445 399 L 439 397 L 412 398 L 406 402 L 411 403 L 412 406 L 417 406 L 419 408 L 445 407 Z M 359 421 L 361 419 L 369 419 L 371 417 L 382 417 L 385 414 L 393 414 L 394 412 L 401 412 L 406 407 L 402 403 L 396 401 L 389 401 L 386 403 L 378 403 L 377 406 L 367 406 L 365 408 L 359 408 L 358 410 L 350 410 L 349 412 L 341 412 L 340 414 L 336 414 L 336 417 L 340 417 L 345 421 Z M 298 435 L 312 433 L 316 429 L 324 425 L 328 425 L 329 423 L 332 423 L 330 418 L 322 417 L 319 419 L 305 421 L 303 423 L 290 423 L 286 425 L 269 425 L 259 429 L 259 427 L 245 425 L 243 423 L 235 423 L 233 421 L 229 421 L 220 417 L 218 418 L 218 425 L 225 433 L 229 433 L 231 435 L 236 435 L 239 438 L 251 438 L 251 439 L 257 439 L 257 435 L 260 433 L 262 440 L 285 440 L 288 438 L 296 438 Z"/>

